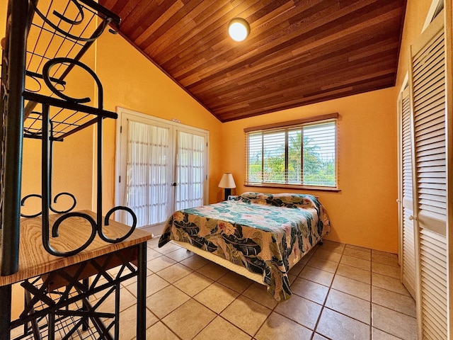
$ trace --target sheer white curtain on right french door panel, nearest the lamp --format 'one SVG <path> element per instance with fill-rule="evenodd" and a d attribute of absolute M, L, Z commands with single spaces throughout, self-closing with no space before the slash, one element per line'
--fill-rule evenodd
<path fill-rule="evenodd" d="M 205 138 L 178 131 L 176 162 L 176 210 L 203 204 Z"/>

